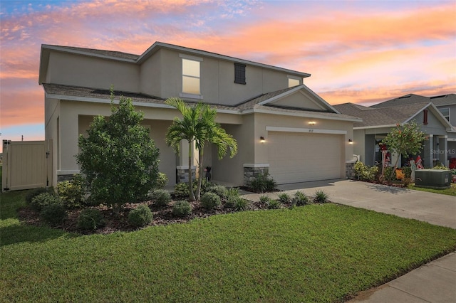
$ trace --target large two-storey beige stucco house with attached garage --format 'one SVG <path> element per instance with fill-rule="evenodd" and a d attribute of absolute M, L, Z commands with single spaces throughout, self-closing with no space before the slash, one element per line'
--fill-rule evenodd
<path fill-rule="evenodd" d="M 185 180 L 187 144 L 181 154 L 165 144 L 178 115 L 167 97 L 205 102 L 239 146 L 234 158 L 204 153 L 212 179 L 240 185 L 269 171 L 279 183 L 346 177 L 351 167 L 353 122 L 303 84 L 307 73 L 154 43 L 141 55 L 68 46 L 41 46 L 39 84 L 45 95 L 46 139 L 53 139 L 54 185 L 78 173 L 78 135 L 95 115 L 110 115 L 110 86 L 144 112 L 144 126 L 160 149 L 160 171 L 170 184 Z"/>

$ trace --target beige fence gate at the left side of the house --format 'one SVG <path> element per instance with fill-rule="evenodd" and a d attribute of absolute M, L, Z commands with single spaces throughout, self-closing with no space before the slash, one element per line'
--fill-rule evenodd
<path fill-rule="evenodd" d="M 1 191 L 19 191 L 52 184 L 52 140 L 3 140 Z"/>

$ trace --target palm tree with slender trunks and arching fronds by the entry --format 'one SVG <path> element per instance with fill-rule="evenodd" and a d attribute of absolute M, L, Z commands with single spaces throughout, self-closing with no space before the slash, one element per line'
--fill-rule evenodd
<path fill-rule="evenodd" d="M 168 128 L 165 139 L 166 143 L 175 149 L 175 152 L 178 154 L 181 140 L 187 140 L 189 144 L 189 164 L 192 161 L 192 144 L 194 142 L 198 150 L 199 179 L 196 194 L 193 191 L 192 169 L 190 165 L 188 170 L 188 185 L 190 200 L 199 200 L 202 184 L 204 147 L 208 144 L 215 144 L 218 149 L 219 159 L 222 159 L 227 154 L 228 149 L 230 150 L 230 156 L 233 157 L 237 154 L 236 139 L 232 135 L 227 134 L 220 124 L 215 122 L 217 111 L 211 109 L 209 105 L 198 103 L 197 105 L 187 106 L 184 101 L 174 97 L 167 99 L 165 102 L 167 105 L 175 107 L 182 114 L 182 118 L 176 117 L 172 125 Z"/>

